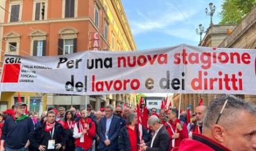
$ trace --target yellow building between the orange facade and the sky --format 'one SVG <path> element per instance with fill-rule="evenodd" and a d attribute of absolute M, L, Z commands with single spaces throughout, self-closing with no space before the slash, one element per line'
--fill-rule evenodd
<path fill-rule="evenodd" d="M 136 51 L 137 47 L 132 37 L 129 23 L 124 13 L 121 0 L 101 0 L 108 16 L 108 41 L 110 51 Z M 111 94 L 105 96 L 105 105 L 112 104 L 136 106 L 136 94 Z M 96 109 L 97 107 L 96 102 Z"/>

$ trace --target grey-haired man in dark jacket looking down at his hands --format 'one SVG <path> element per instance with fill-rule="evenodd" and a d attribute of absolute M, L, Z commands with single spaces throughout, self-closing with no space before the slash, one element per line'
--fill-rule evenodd
<path fill-rule="evenodd" d="M 151 116 L 148 120 L 149 128 L 155 133 L 150 142 L 140 144 L 146 151 L 166 151 L 169 149 L 169 134 L 161 124 L 157 116 Z"/>

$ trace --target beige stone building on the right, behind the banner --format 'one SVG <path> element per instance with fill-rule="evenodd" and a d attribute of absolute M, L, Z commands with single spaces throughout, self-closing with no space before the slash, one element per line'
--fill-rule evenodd
<path fill-rule="evenodd" d="M 256 7 L 237 26 L 234 25 L 212 25 L 207 29 L 204 39 L 199 46 L 207 47 L 229 47 L 229 48 L 256 48 Z M 222 94 L 182 94 L 181 107 L 197 107 L 201 97 L 204 99 L 203 105 L 207 106 L 210 101 Z M 256 103 L 256 96 L 236 95 L 242 99 Z M 174 94 L 174 102 L 179 105 L 179 94 Z"/>

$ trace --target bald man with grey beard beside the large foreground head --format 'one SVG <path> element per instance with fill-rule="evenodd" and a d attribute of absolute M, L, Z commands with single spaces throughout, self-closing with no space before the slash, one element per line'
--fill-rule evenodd
<path fill-rule="evenodd" d="M 196 134 L 202 134 L 202 125 L 205 113 L 207 111 L 207 107 L 204 105 L 196 107 L 195 113 L 196 113 L 196 124 L 194 125 L 192 132 Z"/>

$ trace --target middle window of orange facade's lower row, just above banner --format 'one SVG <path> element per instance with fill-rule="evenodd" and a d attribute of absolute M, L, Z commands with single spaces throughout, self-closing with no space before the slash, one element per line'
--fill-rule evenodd
<path fill-rule="evenodd" d="M 44 56 L 46 51 L 46 40 L 34 40 L 33 55 Z"/>

